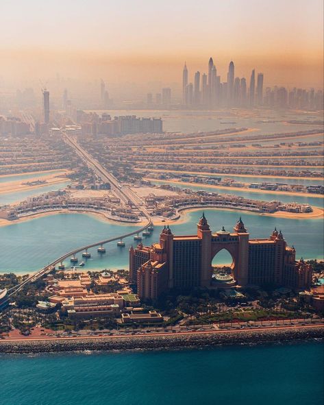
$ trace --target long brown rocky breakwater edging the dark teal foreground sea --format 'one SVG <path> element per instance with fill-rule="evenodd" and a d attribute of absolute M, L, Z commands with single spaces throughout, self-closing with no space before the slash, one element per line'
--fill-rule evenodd
<path fill-rule="evenodd" d="M 305 341 L 323 339 L 324 329 L 300 328 L 289 330 L 250 330 L 238 333 L 192 333 L 170 336 L 119 336 L 95 339 L 53 339 L 39 341 L 0 341 L 0 353 L 51 353 L 79 352 L 85 350 L 135 350 L 135 349 L 176 349 L 216 345 L 279 343 L 284 341 Z"/>

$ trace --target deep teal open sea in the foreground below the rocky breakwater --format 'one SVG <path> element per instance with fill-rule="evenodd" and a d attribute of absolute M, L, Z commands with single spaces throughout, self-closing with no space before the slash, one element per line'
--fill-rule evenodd
<path fill-rule="evenodd" d="M 7 405 L 320 405 L 323 345 L 0 356 Z"/>

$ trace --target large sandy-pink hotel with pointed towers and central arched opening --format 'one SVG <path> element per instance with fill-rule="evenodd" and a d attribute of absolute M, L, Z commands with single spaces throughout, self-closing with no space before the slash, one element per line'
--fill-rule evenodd
<path fill-rule="evenodd" d="M 250 239 L 242 219 L 234 232 L 222 228 L 212 233 L 203 214 L 197 234 L 176 236 L 169 226 L 160 234 L 160 242 L 129 250 L 129 279 L 137 284 L 140 299 L 156 299 L 168 289 L 215 288 L 212 260 L 222 249 L 232 255 L 230 286 L 273 284 L 292 289 L 307 289 L 312 283 L 312 268 L 295 260 L 281 231 L 269 238 Z M 221 280 L 219 280 L 221 282 Z"/>

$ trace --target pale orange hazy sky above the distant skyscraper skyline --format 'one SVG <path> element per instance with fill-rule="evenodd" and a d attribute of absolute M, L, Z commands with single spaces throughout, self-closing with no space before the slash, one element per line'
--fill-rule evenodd
<path fill-rule="evenodd" d="M 323 0 L 0 0 L 3 79 L 192 81 L 212 56 L 226 80 L 322 86 Z"/>

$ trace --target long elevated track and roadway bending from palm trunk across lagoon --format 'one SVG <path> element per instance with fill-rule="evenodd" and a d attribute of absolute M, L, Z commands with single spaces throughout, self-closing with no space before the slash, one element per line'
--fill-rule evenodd
<path fill-rule="evenodd" d="M 114 236 L 114 238 L 108 238 L 108 239 L 105 239 L 103 241 L 91 243 L 90 245 L 85 245 L 85 246 L 82 246 L 82 247 L 78 247 L 77 249 L 73 249 L 71 251 L 68 251 L 67 253 L 63 254 L 59 258 L 56 258 L 55 260 L 53 260 L 53 262 L 49 263 L 49 265 L 43 267 L 42 269 L 36 271 L 36 273 L 33 273 L 32 275 L 30 275 L 23 282 L 21 282 L 19 284 L 16 284 L 16 286 L 12 287 L 11 289 L 8 289 L 8 296 L 9 297 L 11 295 L 14 295 L 14 293 L 17 293 L 18 291 L 23 289 L 23 287 L 26 284 L 28 284 L 29 282 L 34 282 L 34 281 L 38 280 L 38 278 L 42 277 L 42 275 L 45 275 L 45 274 L 49 273 L 50 271 L 52 271 L 53 269 L 55 269 L 55 265 L 57 265 L 58 263 L 61 263 L 64 260 L 66 260 L 67 258 L 69 258 L 71 256 L 74 256 L 75 254 L 79 253 L 80 251 L 84 251 L 84 250 L 86 251 L 87 249 L 90 249 L 91 247 L 102 246 L 102 245 L 105 245 L 106 243 L 119 241 L 119 240 L 121 240 L 123 238 L 127 238 L 128 236 L 139 234 L 143 230 L 145 230 L 145 229 L 147 229 L 147 228 L 149 228 L 150 226 L 153 225 L 153 222 L 152 222 L 152 219 L 151 219 L 151 216 L 150 216 L 149 212 L 147 212 L 147 210 L 143 206 L 138 205 L 138 201 L 136 201 L 136 197 L 133 195 L 132 191 L 129 188 L 126 188 L 126 187 L 122 188 L 119 185 L 119 182 L 116 180 L 116 178 L 111 173 L 106 171 L 101 166 L 101 164 L 97 160 L 95 160 L 95 158 L 90 156 L 90 154 L 88 154 L 88 152 L 77 143 L 77 140 L 67 136 L 66 134 L 64 134 L 64 132 L 62 132 L 62 137 L 63 137 L 64 142 L 66 142 L 67 145 L 69 145 L 69 146 L 71 146 L 71 147 L 73 147 L 75 149 L 78 156 L 80 156 L 80 158 L 82 158 L 82 160 L 84 160 L 84 162 L 87 164 L 87 166 L 90 169 L 92 169 L 92 171 L 94 171 L 101 178 L 101 180 L 103 180 L 105 182 L 106 181 L 110 182 L 111 187 L 112 187 L 112 191 L 114 191 L 114 193 L 119 198 L 121 198 L 121 200 L 125 204 L 128 204 L 128 202 L 131 201 L 132 204 L 140 212 L 142 212 L 143 216 L 147 219 L 147 223 L 145 225 L 143 225 L 141 228 L 138 228 L 138 229 L 136 229 L 136 230 L 134 230 L 132 232 L 128 232 L 127 234 Z"/>

